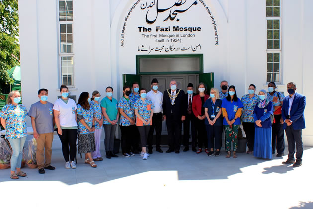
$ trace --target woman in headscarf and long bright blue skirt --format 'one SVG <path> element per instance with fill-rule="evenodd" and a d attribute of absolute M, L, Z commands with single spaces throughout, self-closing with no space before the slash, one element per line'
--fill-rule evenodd
<path fill-rule="evenodd" d="M 272 122 L 273 103 L 267 101 L 267 93 L 264 89 L 259 92 L 260 100 L 255 105 L 253 114 L 255 121 L 254 156 L 264 159 L 272 159 Z"/>

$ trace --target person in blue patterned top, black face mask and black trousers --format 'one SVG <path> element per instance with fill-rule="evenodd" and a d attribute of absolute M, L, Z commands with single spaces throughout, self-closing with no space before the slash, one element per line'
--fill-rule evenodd
<path fill-rule="evenodd" d="M 134 140 L 134 129 L 131 125 L 135 124 L 134 109 L 132 101 L 129 99 L 131 91 L 129 86 L 123 87 L 123 97 L 118 103 L 119 112 L 121 114 L 120 128 L 121 128 L 121 143 L 122 153 L 125 157 L 134 156 L 131 150 L 131 144 Z"/>

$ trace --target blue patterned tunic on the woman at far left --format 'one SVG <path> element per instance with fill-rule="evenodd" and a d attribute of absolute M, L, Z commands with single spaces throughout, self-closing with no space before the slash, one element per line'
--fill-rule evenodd
<path fill-rule="evenodd" d="M 27 109 L 22 104 L 15 106 L 9 103 L 2 108 L 0 117 L 6 120 L 6 139 L 17 139 L 27 136 L 27 114 Z"/>

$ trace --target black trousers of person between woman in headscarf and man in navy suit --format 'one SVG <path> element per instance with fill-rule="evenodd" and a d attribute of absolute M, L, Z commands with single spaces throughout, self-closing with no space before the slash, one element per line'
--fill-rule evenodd
<path fill-rule="evenodd" d="M 285 150 L 285 139 L 284 139 L 284 128 L 283 124 L 280 124 L 281 114 L 274 115 L 275 123 L 272 126 L 272 148 L 273 153 L 275 152 L 275 148 L 278 153 L 284 153 Z"/>

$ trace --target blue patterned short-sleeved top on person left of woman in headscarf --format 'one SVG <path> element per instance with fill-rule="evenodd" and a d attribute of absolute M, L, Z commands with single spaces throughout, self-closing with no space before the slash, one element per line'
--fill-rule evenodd
<path fill-rule="evenodd" d="M 243 95 L 241 98 L 241 102 L 243 104 L 242 108 L 242 122 L 254 122 L 253 111 L 255 104 L 260 100 L 257 94 L 254 94 L 252 98 L 250 98 L 249 94 Z"/>

